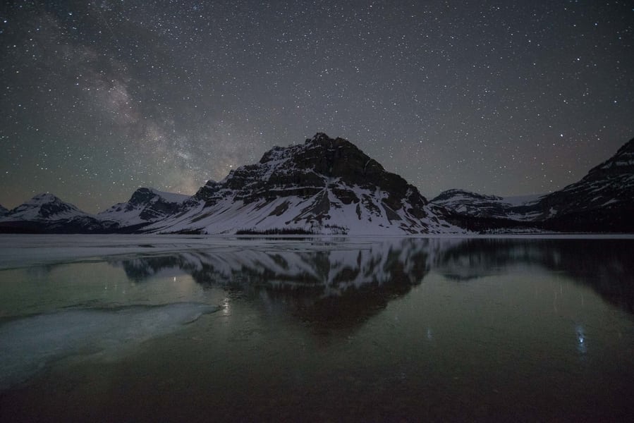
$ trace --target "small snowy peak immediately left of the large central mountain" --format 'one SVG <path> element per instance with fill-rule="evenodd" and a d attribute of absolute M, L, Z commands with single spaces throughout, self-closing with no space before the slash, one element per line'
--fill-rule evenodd
<path fill-rule="evenodd" d="M 128 202 L 114 204 L 97 214 L 102 221 L 115 222 L 119 227 L 142 226 L 178 212 L 189 195 L 139 188 Z"/>

